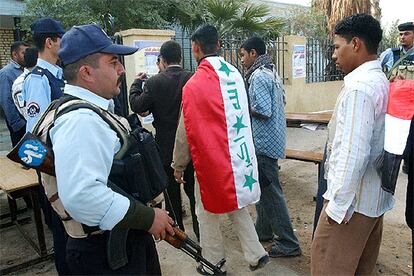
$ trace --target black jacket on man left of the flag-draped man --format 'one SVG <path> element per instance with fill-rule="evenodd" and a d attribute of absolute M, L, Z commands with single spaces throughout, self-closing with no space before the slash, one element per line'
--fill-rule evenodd
<path fill-rule="evenodd" d="M 141 80 L 135 80 L 131 86 L 129 103 L 132 111 L 141 113 L 149 110 L 154 116 L 155 140 L 165 166 L 170 166 L 172 160 L 182 88 L 191 76 L 192 73 L 181 67 L 172 66 L 149 78 L 143 91 Z"/>

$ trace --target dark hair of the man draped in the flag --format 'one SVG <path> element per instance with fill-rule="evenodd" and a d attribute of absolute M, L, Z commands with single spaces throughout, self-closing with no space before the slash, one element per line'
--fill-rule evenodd
<path fill-rule="evenodd" d="M 200 49 L 204 55 L 217 53 L 218 40 L 217 29 L 209 24 L 200 26 L 191 36 L 191 41 L 200 45 Z"/>

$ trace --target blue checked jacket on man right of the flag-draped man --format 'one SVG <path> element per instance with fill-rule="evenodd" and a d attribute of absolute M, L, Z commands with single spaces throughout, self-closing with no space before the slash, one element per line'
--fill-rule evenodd
<path fill-rule="evenodd" d="M 266 119 L 252 116 L 256 154 L 273 159 L 285 157 L 286 119 L 283 85 L 272 70 L 256 69 L 250 77 L 250 107 Z"/>

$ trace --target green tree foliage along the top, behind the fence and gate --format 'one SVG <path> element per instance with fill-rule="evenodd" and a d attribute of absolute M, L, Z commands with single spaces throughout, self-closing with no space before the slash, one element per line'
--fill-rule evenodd
<path fill-rule="evenodd" d="M 278 36 L 283 22 L 269 15 L 266 5 L 247 0 L 26 0 L 23 27 L 40 17 L 60 20 L 65 29 L 114 18 L 114 31 L 130 28 L 172 28 L 177 24 L 194 31 L 203 23 L 217 27 L 222 37 L 253 34 Z"/>

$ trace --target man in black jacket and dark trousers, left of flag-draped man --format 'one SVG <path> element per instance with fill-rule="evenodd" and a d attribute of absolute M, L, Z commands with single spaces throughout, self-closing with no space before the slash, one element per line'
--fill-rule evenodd
<path fill-rule="evenodd" d="M 181 68 L 181 47 L 175 41 L 164 42 L 158 58 L 159 63 L 157 65 L 160 68 L 160 73 L 145 82 L 143 93 L 140 92 L 140 89 L 137 89 L 139 85 L 142 85 L 140 78 L 137 78 L 135 81 L 137 84 L 132 86 L 129 100 L 132 111 L 139 114 L 149 111 L 154 116 L 155 140 L 160 147 L 164 169 L 169 179 L 167 188 L 169 198 L 166 199 L 166 209 L 173 218 L 176 218 L 178 226 L 185 230 L 180 184 L 174 180 L 171 161 L 181 107 L 182 89 L 192 74 Z M 161 70 L 162 68 L 165 69 Z M 187 167 L 184 177 L 186 182 L 184 191 L 190 200 L 193 230 L 197 239 L 199 239 L 198 222 L 195 214 L 194 169 L 192 164 Z"/>

